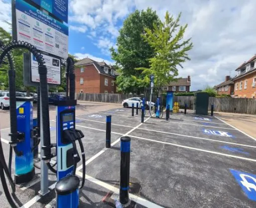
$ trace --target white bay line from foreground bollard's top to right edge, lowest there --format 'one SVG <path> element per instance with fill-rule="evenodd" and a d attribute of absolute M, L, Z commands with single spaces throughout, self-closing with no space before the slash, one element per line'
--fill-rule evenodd
<path fill-rule="evenodd" d="M 133 136 L 133 135 L 128 135 L 128 136 L 143 139 L 143 140 L 158 142 L 158 143 L 169 144 L 169 145 L 172 145 L 172 146 L 178 146 L 178 147 L 182 147 L 182 148 L 193 149 L 193 150 L 197 150 L 197 151 L 203 151 L 203 152 L 208 152 L 208 153 L 212 153 L 212 154 L 219 154 L 219 155 L 223 155 L 223 156 L 227 156 L 227 157 L 234 157 L 234 158 L 238 158 L 238 159 L 243 159 L 243 160 L 256 162 L 256 159 L 251 159 L 251 158 L 248 158 L 248 157 L 235 156 L 235 155 L 225 154 L 225 153 L 221 153 L 221 152 L 217 152 L 217 151 L 210 151 L 210 150 L 205 150 L 205 149 L 200 149 L 200 148 L 195 148 L 195 147 L 190 147 L 190 146 L 184 146 L 184 145 L 175 144 L 175 143 L 166 142 L 166 141 L 158 141 L 158 140 L 154 140 L 154 139 L 150 139 L 150 138 L 144 138 L 144 137 L 140 137 L 140 136 Z"/>

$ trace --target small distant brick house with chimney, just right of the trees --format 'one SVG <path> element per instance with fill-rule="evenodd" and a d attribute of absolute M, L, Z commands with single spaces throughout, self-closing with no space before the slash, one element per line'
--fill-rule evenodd
<path fill-rule="evenodd" d="M 189 92 L 191 86 L 191 79 L 190 76 L 187 78 L 180 78 L 177 81 L 171 81 L 165 89 L 167 91 L 174 91 L 174 92 Z"/>

